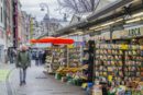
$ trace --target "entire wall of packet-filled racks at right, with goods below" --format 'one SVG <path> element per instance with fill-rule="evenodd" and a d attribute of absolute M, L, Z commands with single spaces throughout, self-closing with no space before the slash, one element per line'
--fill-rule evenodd
<path fill-rule="evenodd" d="M 99 82 L 113 95 L 143 95 L 143 46 L 97 44 L 95 83 Z"/>

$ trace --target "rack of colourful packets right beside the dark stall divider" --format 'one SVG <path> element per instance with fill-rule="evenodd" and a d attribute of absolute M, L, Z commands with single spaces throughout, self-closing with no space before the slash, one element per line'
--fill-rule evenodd
<path fill-rule="evenodd" d="M 119 84 L 123 79 L 123 51 L 118 45 L 96 45 L 96 80 Z"/>

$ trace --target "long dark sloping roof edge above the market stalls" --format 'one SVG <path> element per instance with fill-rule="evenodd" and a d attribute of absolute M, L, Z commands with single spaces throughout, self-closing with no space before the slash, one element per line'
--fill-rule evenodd
<path fill-rule="evenodd" d="M 111 14 L 113 15 L 114 10 L 118 10 L 119 8 L 122 9 L 122 7 L 131 3 L 132 1 L 134 1 L 134 0 L 117 0 L 116 2 L 112 2 L 112 3 L 108 4 L 106 8 L 96 11 L 95 13 L 92 13 L 91 15 L 89 15 L 86 19 L 81 20 L 80 22 L 73 23 L 73 24 L 70 24 L 70 25 L 68 25 L 66 27 L 63 27 L 63 28 L 58 29 L 56 32 L 58 34 L 55 34 L 55 35 L 59 36 L 59 35 L 63 35 L 64 33 L 69 33 L 73 28 L 79 28 L 81 26 L 86 26 L 87 24 L 92 24 L 97 20 L 102 20 L 106 16 L 110 16 Z"/>

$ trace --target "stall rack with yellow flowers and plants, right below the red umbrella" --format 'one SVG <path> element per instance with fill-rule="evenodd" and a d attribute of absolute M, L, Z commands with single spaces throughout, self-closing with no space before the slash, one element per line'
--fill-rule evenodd
<path fill-rule="evenodd" d="M 68 45 L 67 46 L 67 67 L 59 68 L 56 75 L 62 75 L 61 80 L 70 84 L 81 85 L 81 83 L 87 80 L 82 70 L 87 69 L 87 66 L 81 63 L 81 44 Z"/>

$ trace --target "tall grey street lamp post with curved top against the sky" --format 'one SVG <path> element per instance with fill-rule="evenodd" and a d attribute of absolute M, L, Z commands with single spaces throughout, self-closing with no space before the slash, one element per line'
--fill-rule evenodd
<path fill-rule="evenodd" d="M 50 32 L 50 10 L 48 10 L 48 4 L 47 3 L 41 3 L 40 4 L 41 7 L 41 11 L 45 11 L 45 9 L 47 10 L 46 14 L 47 14 L 47 21 L 46 21 L 46 29 L 47 29 L 47 35 L 48 35 L 48 32 Z"/>

